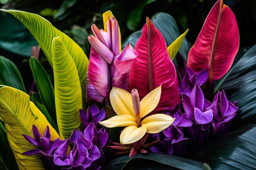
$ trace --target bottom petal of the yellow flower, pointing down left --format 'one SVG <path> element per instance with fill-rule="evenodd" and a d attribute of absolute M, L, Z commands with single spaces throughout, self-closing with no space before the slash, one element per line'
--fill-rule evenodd
<path fill-rule="evenodd" d="M 147 131 L 147 126 L 143 124 L 141 127 L 128 126 L 120 134 L 120 144 L 132 144 L 141 139 Z"/>

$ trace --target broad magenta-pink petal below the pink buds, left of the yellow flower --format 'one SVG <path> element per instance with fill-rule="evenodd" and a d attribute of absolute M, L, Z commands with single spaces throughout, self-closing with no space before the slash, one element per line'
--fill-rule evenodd
<path fill-rule="evenodd" d="M 110 103 L 110 70 L 108 63 L 91 48 L 88 74 L 92 86 L 104 97 L 106 103 Z"/>

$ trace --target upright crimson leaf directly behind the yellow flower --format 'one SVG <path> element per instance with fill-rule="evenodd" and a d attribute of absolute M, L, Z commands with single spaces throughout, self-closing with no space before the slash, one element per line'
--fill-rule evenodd
<path fill-rule="evenodd" d="M 130 91 L 136 88 L 142 99 L 162 84 L 161 99 L 156 110 L 173 108 L 180 102 L 175 66 L 168 55 L 162 34 L 149 18 L 137 41 L 135 51 L 138 57 L 130 68 Z"/>

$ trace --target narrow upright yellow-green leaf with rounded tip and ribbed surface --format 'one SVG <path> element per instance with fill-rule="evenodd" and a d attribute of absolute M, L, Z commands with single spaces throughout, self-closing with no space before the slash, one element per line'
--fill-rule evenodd
<path fill-rule="evenodd" d="M 57 124 L 61 139 L 66 139 L 81 124 L 82 92 L 76 65 L 61 37 L 52 40 L 52 63 Z"/>

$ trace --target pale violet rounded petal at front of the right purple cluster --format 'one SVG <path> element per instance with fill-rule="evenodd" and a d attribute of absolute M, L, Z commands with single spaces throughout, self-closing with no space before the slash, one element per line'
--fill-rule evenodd
<path fill-rule="evenodd" d="M 213 119 L 212 110 L 202 112 L 200 109 L 195 108 L 194 110 L 195 121 L 199 124 L 208 124 Z"/>

